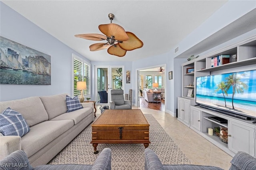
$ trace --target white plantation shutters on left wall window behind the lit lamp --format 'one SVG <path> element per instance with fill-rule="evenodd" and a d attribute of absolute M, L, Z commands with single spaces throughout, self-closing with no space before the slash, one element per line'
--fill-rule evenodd
<path fill-rule="evenodd" d="M 80 90 L 76 90 L 76 84 L 78 81 L 86 82 L 86 90 L 84 96 L 90 96 L 90 67 L 91 64 L 80 59 L 76 55 L 73 55 L 73 68 L 74 68 L 74 96 L 80 96 Z"/>

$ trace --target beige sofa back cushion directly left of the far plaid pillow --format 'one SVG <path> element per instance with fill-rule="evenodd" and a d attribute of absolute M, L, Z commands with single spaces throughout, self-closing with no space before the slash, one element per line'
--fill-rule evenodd
<path fill-rule="evenodd" d="M 49 119 L 67 112 L 66 95 L 67 94 L 40 96 Z"/>

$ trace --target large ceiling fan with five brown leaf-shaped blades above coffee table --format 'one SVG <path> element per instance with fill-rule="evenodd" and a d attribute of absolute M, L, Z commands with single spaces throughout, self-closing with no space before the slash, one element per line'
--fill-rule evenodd
<path fill-rule="evenodd" d="M 136 37 L 134 33 L 126 32 L 120 25 L 112 23 L 114 17 L 114 14 L 108 14 L 110 23 L 99 25 L 100 31 L 105 35 L 97 33 L 77 34 L 75 37 L 95 41 L 106 40 L 106 43 L 95 43 L 90 45 L 90 51 L 108 49 L 109 54 L 116 55 L 118 57 L 123 57 L 126 55 L 126 51 L 132 51 L 134 49 L 141 48 L 143 46 L 143 42 L 138 37 Z"/>

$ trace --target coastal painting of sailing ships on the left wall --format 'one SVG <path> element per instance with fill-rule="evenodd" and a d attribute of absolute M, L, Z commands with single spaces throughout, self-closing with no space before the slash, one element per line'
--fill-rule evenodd
<path fill-rule="evenodd" d="M 51 56 L 0 36 L 0 84 L 51 84 Z"/>

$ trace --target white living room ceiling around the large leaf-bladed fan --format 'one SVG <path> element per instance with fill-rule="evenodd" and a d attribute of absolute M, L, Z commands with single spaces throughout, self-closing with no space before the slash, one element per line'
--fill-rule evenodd
<path fill-rule="evenodd" d="M 226 0 L 3 0 L 6 5 L 32 21 L 90 61 L 135 61 L 167 53 L 207 20 Z M 144 43 L 124 57 L 107 50 L 90 51 L 99 41 L 74 37 L 100 33 L 98 25 L 113 23 L 134 33 Z"/>

